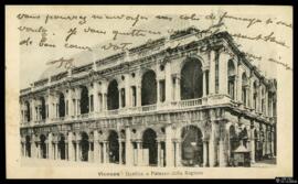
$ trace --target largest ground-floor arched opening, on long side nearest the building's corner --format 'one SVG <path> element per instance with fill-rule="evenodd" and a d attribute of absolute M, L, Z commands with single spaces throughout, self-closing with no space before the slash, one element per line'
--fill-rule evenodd
<path fill-rule="evenodd" d="M 202 166 L 203 134 L 200 128 L 187 126 L 182 129 L 182 164 L 184 166 Z"/>

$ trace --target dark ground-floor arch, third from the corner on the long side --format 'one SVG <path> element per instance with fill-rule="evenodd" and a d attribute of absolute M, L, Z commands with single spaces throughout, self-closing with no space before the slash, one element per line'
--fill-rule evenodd
<path fill-rule="evenodd" d="M 119 163 L 119 140 L 118 133 L 114 130 L 109 132 L 108 145 L 109 145 L 109 162 Z"/>

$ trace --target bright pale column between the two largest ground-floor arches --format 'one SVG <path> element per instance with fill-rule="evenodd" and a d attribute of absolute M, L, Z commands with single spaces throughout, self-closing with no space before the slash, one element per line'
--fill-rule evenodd
<path fill-rule="evenodd" d="M 173 131 L 172 126 L 166 127 L 166 163 L 167 166 L 173 166 L 173 142 L 172 142 Z"/>

